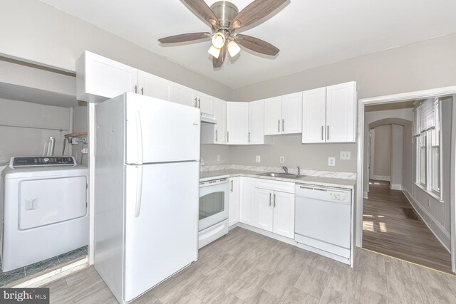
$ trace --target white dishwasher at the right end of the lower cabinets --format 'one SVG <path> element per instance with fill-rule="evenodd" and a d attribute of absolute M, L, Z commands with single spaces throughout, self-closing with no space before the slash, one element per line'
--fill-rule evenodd
<path fill-rule="evenodd" d="M 295 241 L 351 264 L 351 190 L 296 184 Z"/>

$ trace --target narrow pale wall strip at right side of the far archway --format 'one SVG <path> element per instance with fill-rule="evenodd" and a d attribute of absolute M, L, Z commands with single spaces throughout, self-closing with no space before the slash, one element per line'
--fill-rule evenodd
<path fill-rule="evenodd" d="M 391 184 L 393 190 L 402 190 L 404 127 L 391 125 Z"/>

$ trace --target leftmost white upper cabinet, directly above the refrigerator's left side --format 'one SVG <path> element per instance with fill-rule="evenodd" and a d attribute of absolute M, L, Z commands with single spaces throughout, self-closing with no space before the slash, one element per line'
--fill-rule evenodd
<path fill-rule="evenodd" d="M 76 62 L 76 98 L 100 103 L 138 90 L 138 69 L 85 51 Z"/>

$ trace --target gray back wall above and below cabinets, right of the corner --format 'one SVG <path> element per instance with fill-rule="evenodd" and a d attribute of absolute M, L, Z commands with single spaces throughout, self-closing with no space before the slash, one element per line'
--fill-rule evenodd
<path fill-rule="evenodd" d="M 455 85 L 455 50 L 456 33 L 453 33 L 248 85 L 234 90 L 233 100 L 259 100 L 350 80 L 356 80 L 358 83 L 358 98 Z M 365 130 L 368 129 L 365 128 Z M 367 142 L 367 138 L 364 142 Z M 276 144 L 274 143 L 274 145 Z M 297 143 L 290 143 L 289 146 L 281 147 L 281 149 L 294 150 L 298 145 Z M 247 153 L 249 148 L 242 147 L 239 149 L 243 153 L 233 150 L 232 162 L 254 164 L 252 153 L 258 148 L 252 147 L 252 152 L 249 153 Z M 338 147 L 331 147 L 331 145 L 312 145 L 310 150 L 316 154 L 312 159 L 312 166 L 316 169 L 328 169 L 326 166 L 328 150 L 333 150 L 331 151 L 332 154 L 332 152 L 342 150 L 342 147 L 339 149 Z M 356 148 L 353 147 L 350 150 L 352 151 L 352 159 L 356 159 Z M 274 155 L 274 159 L 278 156 Z M 364 159 L 367 159 L 366 149 Z M 356 162 L 350 162 L 349 167 L 344 166 L 343 169 L 336 169 L 356 172 Z"/>

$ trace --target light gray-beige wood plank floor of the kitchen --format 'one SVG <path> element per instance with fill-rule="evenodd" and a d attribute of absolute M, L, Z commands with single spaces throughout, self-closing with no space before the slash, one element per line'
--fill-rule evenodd
<path fill-rule="evenodd" d="M 45 287 L 51 303 L 116 303 L 93 267 Z M 350 268 L 235 228 L 134 303 L 456 303 L 456 278 L 361 248 Z"/>

